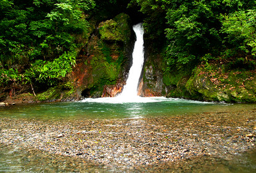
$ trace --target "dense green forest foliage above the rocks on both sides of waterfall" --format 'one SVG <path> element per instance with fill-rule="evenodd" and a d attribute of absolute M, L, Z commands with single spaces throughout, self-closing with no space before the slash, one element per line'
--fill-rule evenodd
<path fill-rule="evenodd" d="M 89 23 L 122 12 L 143 19 L 165 74 L 213 61 L 255 69 L 255 9 L 251 0 L 0 0 L 0 84 L 64 81 L 89 40 Z"/>

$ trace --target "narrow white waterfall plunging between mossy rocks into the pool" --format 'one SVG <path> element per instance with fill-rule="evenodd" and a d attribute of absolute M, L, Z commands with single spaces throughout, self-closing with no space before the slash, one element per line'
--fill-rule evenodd
<path fill-rule="evenodd" d="M 133 26 L 133 31 L 136 35 L 136 41 L 133 49 L 133 64 L 129 71 L 129 76 L 126 81 L 126 85 L 123 88 L 123 92 L 118 97 L 122 98 L 135 98 L 137 97 L 137 88 L 139 85 L 139 77 L 144 63 L 144 47 L 143 47 L 143 34 L 144 30 L 142 23 Z"/>

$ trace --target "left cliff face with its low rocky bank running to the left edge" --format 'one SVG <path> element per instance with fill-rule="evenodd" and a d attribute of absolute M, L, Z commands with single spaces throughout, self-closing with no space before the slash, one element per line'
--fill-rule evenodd
<path fill-rule="evenodd" d="M 115 96 L 121 92 L 131 67 L 135 41 L 130 17 L 121 13 L 101 23 L 91 19 L 90 31 L 89 41 L 84 41 L 85 45 L 77 50 L 76 65 L 64 83 L 38 91 L 36 96 L 29 93 L 31 86 L 24 85 L 24 92 L 1 92 L 1 100 L 17 103 L 67 101 Z"/>

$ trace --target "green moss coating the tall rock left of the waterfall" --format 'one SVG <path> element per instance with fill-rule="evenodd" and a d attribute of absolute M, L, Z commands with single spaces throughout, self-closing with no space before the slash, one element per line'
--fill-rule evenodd
<path fill-rule="evenodd" d="M 93 35 L 87 44 L 90 55 L 87 63 L 87 79 L 80 90 L 89 96 L 101 96 L 105 85 L 115 85 L 123 77 L 125 60 L 131 39 L 129 16 L 121 13 L 114 19 L 99 24 L 99 35 Z"/>

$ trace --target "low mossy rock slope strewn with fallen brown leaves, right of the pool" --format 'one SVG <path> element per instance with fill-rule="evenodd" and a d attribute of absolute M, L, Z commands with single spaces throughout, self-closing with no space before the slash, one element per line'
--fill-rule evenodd
<path fill-rule="evenodd" d="M 191 75 L 184 71 L 165 74 L 167 96 L 205 101 L 256 102 L 255 71 L 225 72 L 213 65 L 211 71 L 197 67 Z"/>

